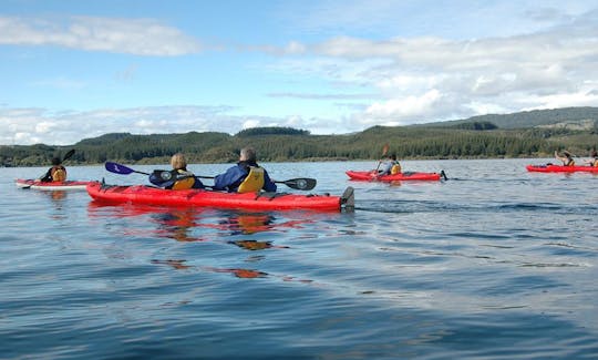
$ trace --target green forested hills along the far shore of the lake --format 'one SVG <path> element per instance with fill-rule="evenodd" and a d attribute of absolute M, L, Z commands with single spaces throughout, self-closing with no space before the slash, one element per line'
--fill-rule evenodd
<path fill-rule="evenodd" d="M 568 150 L 587 157 L 598 145 L 598 107 L 538 110 L 410 126 L 373 126 L 363 132 L 312 135 L 291 127 L 255 127 L 235 135 L 218 132 L 133 135 L 111 133 L 72 145 L 0 145 L 0 167 L 45 166 L 71 148 L 69 165 L 106 161 L 157 165 L 182 152 L 189 164 L 235 163 L 254 146 L 260 162 L 553 157 Z"/>

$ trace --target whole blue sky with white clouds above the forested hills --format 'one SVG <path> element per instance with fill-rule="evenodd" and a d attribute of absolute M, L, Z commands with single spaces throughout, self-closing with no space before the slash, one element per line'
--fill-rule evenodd
<path fill-rule="evenodd" d="M 0 145 L 598 106 L 598 0 L 1 0 Z"/>

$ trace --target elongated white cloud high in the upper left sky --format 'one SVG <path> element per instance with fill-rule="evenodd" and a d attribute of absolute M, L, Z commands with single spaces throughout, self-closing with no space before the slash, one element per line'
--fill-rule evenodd
<path fill-rule="evenodd" d="M 196 39 L 150 19 L 0 17 L 0 44 L 54 45 L 147 56 L 176 56 L 202 50 Z"/>

